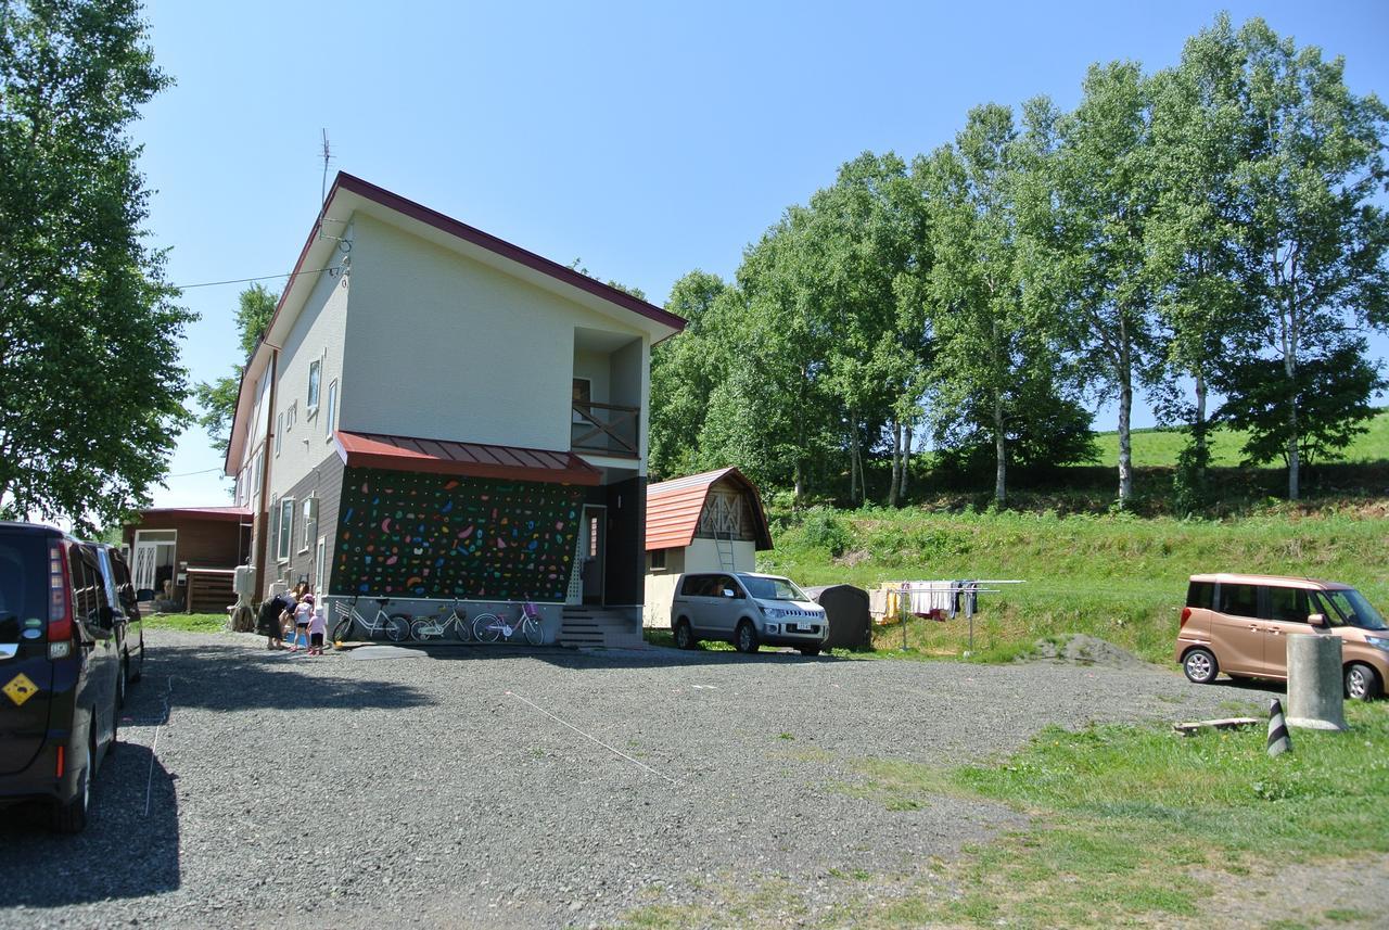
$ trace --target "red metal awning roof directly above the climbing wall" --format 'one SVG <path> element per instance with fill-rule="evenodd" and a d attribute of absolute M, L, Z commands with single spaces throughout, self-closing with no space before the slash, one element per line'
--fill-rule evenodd
<path fill-rule="evenodd" d="M 393 472 L 431 472 L 469 477 L 503 477 L 554 484 L 597 484 L 603 473 L 574 453 L 554 453 L 519 446 L 456 443 L 444 439 L 336 433 L 338 454 L 349 468 L 385 468 Z"/>

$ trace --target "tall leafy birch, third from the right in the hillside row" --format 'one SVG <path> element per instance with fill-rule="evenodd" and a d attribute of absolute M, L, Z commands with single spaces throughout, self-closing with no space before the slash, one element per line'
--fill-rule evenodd
<path fill-rule="evenodd" d="M 1154 279 L 1146 247 L 1153 211 L 1149 86 L 1139 65 L 1093 65 L 1071 114 L 1033 104 L 1056 133 L 1040 162 L 1047 197 L 1032 203 L 1029 280 L 1067 323 L 1063 341 L 1096 393 L 1118 403 L 1118 501 L 1133 496 L 1133 390 L 1160 364 Z"/>

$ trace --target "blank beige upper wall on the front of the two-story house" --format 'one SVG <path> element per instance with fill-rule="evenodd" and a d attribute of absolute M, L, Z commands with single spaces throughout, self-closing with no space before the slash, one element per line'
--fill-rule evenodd
<path fill-rule="evenodd" d="M 374 217 L 354 228 L 343 429 L 567 450 L 574 329 L 647 354 L 636 326 Z"/>

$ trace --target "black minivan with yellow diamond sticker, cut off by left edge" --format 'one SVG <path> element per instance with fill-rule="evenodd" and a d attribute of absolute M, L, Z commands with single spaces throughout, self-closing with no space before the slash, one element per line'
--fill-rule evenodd
<path fill-rule="evenodd" d="M 86 826 L 115 744 L 121 655 L 97 547 L 0 522 L 0 806 L 50 800 L 53 827 Z"/>

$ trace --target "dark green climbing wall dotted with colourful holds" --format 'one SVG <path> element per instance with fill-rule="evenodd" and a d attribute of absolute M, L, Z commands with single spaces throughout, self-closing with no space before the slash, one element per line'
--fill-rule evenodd
<path fill-rule="evenodd" d="M 583 491 L 349 468 L 332 594 L 563 601 Z"/>

